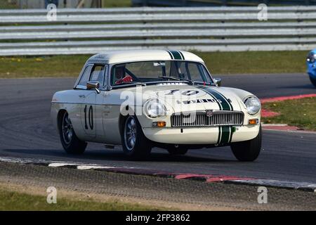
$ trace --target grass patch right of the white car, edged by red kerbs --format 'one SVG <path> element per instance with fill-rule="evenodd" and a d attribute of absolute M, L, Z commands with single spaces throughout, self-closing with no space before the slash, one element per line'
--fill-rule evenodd
<path fill-rule="evenodd" d="M 301 98 L 274 103 L 265 103 L 263 108 L 276 113 L 276 117 L 262 118 L 265 123 L 289 124 L 316 131 L 316 98 Z"/>

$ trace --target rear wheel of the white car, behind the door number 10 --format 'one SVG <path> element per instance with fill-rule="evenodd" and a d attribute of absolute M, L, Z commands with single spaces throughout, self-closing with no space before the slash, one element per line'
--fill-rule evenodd
<path fill-rule="evenodd" d="M 79 155 L 84 153 L 84 150 L 86 150 L 87 143 L 79 140 L 77 135 L 74 133 L 72 122 L 68 117 L 68 113 L 62 113 L 58 122 L 60 141 L 66 153 L 72 155 Z M 70 132 L 71 134 L 67 132 Z"/>

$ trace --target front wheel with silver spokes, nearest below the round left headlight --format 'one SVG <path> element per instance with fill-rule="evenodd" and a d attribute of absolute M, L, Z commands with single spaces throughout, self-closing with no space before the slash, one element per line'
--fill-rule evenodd
<path fill-rule="evenodd" d="M 152 145 L 143 134 L 136 116 L 128 116 L 121 132 L 121 143 L 125 155 L 133 160 L 143 160 L 150 156 Z"/>

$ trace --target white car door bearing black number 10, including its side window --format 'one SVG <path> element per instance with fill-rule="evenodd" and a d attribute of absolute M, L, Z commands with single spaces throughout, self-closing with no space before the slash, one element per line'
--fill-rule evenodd
<path fill-rule="evenodd" d="M 91 68 L 89 82 L 100 82 L 103 84 L 103 79 L 105 75 L 105 65 L 94 64 Z M 86 140 L 96 139 L 97 135 L 97 92 L 95 89 L 84 91 L 84 94 L 81 94 L 82 104 L 81 104 L 81 124 L 84 129 L 84 134 Z"/>

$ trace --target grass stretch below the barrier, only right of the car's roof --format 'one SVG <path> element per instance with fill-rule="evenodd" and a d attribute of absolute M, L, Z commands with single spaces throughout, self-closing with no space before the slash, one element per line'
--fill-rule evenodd
<path fill-rule="evenodd" d="M 197 53 L 212 74 L 305 72 L 307 51 Z"/>

